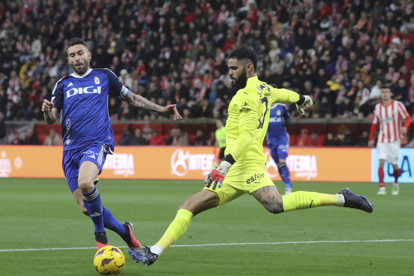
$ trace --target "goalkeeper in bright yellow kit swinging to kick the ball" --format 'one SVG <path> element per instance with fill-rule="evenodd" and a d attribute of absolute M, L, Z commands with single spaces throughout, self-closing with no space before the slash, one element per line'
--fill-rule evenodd
<path fill-rule="evenodd" d="M 130 248 L 136 262 L 153 264 L 159 255 L 184 235 L 193 216 L 251 194 L 267 211 L 279 214 L 286 211 L 318 206 L 342 206 L 371 213 L 371 203 L 348 188 L 338 194 L 292 192 L 282 196 L 266 174 L 263 139 L 269 122 L 272 103 L 296 103 L 301 114 L 312 105 L 309 96 L 287 89 L 276 89 L 261 82 L 256 75 L 257 55 L 247 47 L 229 55 L 231 86 L 236 89 L 229 104 L 226 121 L 226 151 L 223 161 L 207 175 L 206 187 L 185 199 L 161 240 L 152 247 Z"/>

